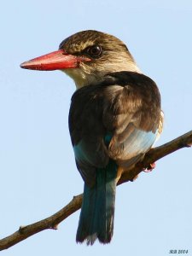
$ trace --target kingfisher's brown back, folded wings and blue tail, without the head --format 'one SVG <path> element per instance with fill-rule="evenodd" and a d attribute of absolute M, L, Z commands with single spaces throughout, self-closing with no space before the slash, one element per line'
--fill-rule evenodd
<path fill-rule="evenodd" d="M 84 179 L 78 242 L 111 241 L 117 170 L 129 170 L 152 147 L 160 122 L 159 90 L 143 74 L 110 73 L 74 93 L 69 131 Z"/>

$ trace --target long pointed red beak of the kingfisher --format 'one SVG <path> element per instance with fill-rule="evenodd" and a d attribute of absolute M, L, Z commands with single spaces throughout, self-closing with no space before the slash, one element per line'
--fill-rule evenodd
<path fill-rule="evenodd" d="M 20 67 L 34 70 L 56 70 L 79 67 L 79 63 L 83 61 L 90 61 L 90 59 L 85 56 L 68 55 L 64 49 L 59 49 L 23 62 Z"/>

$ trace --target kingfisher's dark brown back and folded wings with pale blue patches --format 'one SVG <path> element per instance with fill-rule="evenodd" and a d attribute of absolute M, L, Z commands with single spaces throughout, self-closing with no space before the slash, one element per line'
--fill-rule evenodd
<path fill-rule="evenodd" d="M 133 76 L 133 77 L 132 77 Z M 160 122 L 160 95 L 151 79 L 137 73 L 113 73 L 102 84 L 77 90 L 69 129 L 84 181 L 109 157 L 130 166 L 152 146 Z"/>

